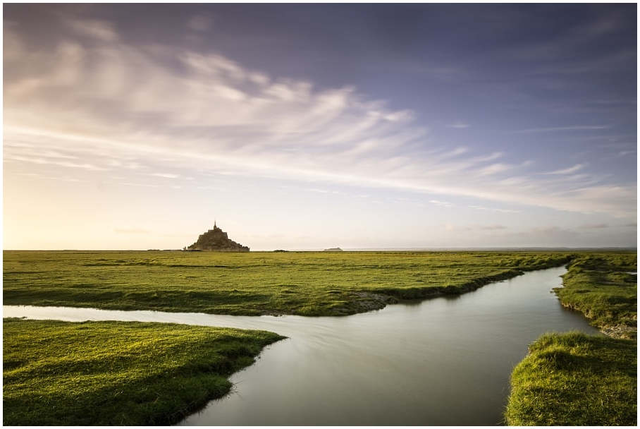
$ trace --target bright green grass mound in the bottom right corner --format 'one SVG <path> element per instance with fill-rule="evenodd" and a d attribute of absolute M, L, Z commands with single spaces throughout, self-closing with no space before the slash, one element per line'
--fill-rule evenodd
<path fill-rule="evenodd" d="M 512 374 L 509 425 L 636 425 L 636 342 L 570 332 L 529 351 Z"/>

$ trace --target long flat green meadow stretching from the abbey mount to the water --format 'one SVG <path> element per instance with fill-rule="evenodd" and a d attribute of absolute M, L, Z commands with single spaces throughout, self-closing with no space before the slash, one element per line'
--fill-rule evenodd
<path fill-rule="evenodd" d="M 4 305 L 230 315 L 347 315 L 461 294 L 562 252 L 4 251 Z"/>

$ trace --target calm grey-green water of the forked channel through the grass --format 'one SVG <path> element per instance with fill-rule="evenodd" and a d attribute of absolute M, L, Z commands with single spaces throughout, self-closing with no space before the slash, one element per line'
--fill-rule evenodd
<path fill-rule="evenodd" d="M 551 292 L 565 268 L 340 318 L 4 306 L 4 317 L 269 330 L 285 339 L 182 425 L 499 425 L 514 365 L 545 332 L 597 333 Z"/>

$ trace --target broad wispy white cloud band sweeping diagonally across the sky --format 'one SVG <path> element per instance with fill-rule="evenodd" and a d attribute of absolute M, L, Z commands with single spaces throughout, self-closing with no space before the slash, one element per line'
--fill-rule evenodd
<path fill-rule="evenodd" d="M 7 145 L 6 162 L 118 171 L 130 184 L 137 169 L 159 179 L 177 179 L 166 171 L 190 169 L 558 210 L 636 212 L 634 185 L 570 176 L 582 164 L 544 176 L 531 170 L 530 160 L 495 162 L 503 152 L 452 150 L 429 136 L 428 118 L 391 109 L 355 87 L 320 89 L 220 54 L 125 44 L 104 21 L 72 19 L 68 25 L 91 43 L 60 40 L 44 51 L 11 36 L 13 53 L 4 57 L 4 138 L 31 146 Z"/>

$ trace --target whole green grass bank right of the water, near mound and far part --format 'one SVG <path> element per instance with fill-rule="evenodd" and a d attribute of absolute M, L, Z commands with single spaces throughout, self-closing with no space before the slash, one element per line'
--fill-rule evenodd
<path fill-rule="evenodd" d="M 637 271 L 635 252 L 575 255 L 563 306 L 607 335 L 546 334 L 511 377 L 509 425 L 637 424 Z"/>

